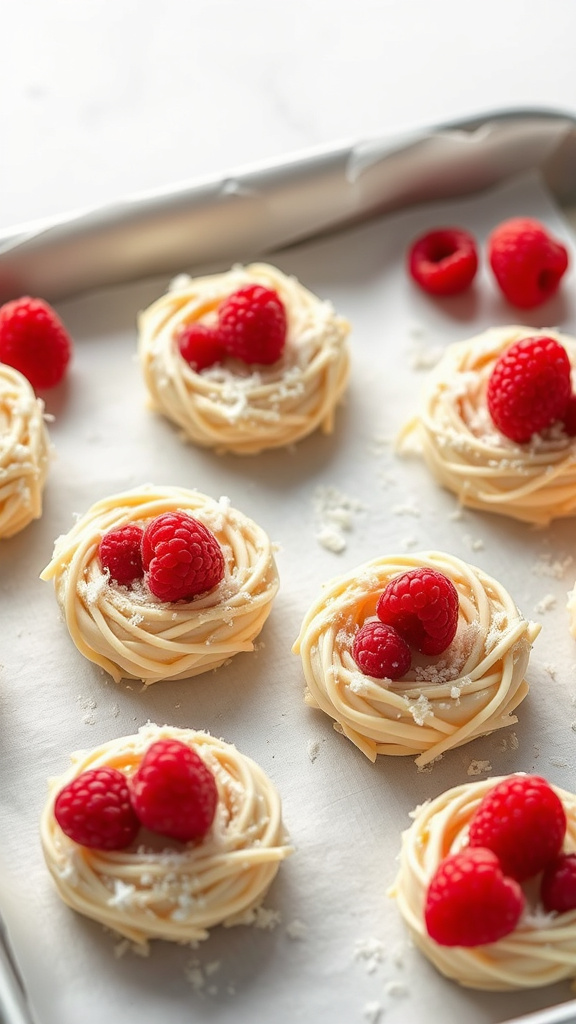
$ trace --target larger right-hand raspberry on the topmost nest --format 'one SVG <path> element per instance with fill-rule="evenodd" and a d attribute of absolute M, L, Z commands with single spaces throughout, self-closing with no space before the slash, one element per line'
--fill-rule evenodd
<path fill-rule="evenodd" d="M 218 309 L 218 333 L 229 355 L 244 362 L 276 362 L 286 343 L 287 319 L 280 296 L 262 285 L 245 285 Z"/>

